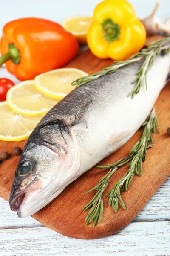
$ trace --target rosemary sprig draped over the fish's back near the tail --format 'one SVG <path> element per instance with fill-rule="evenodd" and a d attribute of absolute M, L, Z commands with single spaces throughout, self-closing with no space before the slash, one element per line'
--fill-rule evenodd
<path fill-rule="evenodd" d="M 170 37 L 167 38 L 161 38 L 156 41 L 153 41 L 149 47 L 146 49 L 142 49 L 140 52 L 136 53 L 135 55 L 128 58 L 126 61 L 115 61 L 114 64 L 112 64 L 109 67 L 105 67 L 102 71 L 95 73 L 93 75 L 84 76 L 81 77 L 75 81 L 72 82 L 72 85 L 76 85 L 76 87 L 81 86 L 82 84 L 86 84 L 90 81 L 93 81 L 100 76 L 104 76 L 106 74 L 110 74 L 118 70 L 120 67 L 126 66 L 128 64 L 144 60 L 142 67 L 137 72 L 137 77 L 135 80 L 131 82 L 131 84 L 136 83 L 133 90 L 128 94 L 128 96 L 131 96 L 132 98 L 135 96 L 135 94 L 139 93 L 142 84 L 145 84 L 145 87 L 147 89 L 147 83 L 146 83 L 146 75 L 149 67 L 152 66 L 153 61 L 155 60 L 156 56 L 161 52 L 164 51 L 165 54 L 170 52 L 170 45 L 167 45 L 167 42 L 170 41 Z"/>

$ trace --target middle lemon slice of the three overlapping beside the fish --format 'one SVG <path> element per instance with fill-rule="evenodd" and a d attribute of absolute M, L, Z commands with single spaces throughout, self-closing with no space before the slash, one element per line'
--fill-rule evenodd
<path fill-rule="evenodd" d="M 58 102 L 40 93 L 35 87 L 34 80 L 24 81 L 11 87 L 6 100 L 14 112 L 27 116 L 47 113 Z"/>

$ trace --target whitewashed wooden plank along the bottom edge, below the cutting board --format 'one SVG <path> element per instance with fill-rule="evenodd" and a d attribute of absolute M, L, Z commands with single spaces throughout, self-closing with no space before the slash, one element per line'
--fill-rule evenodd
<path fill-rule="evenodd" d="M 130 223 L 113 236 L 77 240 L 47 227 L 0 230 L 2 256 L 170 256 L 170 222 Z"/>

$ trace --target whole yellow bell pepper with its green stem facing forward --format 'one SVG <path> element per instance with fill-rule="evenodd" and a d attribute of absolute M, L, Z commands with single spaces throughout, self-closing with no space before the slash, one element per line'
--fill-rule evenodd
<path fill-rule="evenodd" d="M 94 9 L 87 42 L 97 57 L 125 60 L 139 52 L 145 40 L 145 28 L 127 1 L 105 0 Z"/>

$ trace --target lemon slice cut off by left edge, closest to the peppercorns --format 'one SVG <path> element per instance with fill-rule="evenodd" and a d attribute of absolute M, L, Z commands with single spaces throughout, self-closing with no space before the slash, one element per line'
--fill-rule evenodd
<path fill-rule="evenodd" d="M 23 116 L 11 110 L 6 101 L 1 102 L 0 140 L 21 141 L 28 139 L 43 116 Z"/>

